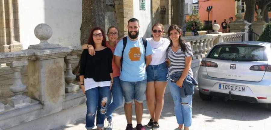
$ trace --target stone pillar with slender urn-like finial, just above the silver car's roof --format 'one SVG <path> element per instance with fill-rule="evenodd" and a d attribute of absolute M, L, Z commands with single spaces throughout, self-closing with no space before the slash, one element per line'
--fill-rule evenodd
<path fill-rule="evenodd" d="M 248 26 L 251 25 L 251 23 L 248 23 L 248 21 L 242 20 L 244 15 L 241 13 L 242 5 L 241 2 L 237 2 L 237 14 L 235 15 L 236 21 L 229 23 L 229 26 L 231 28 L 231 32 L 245 32 L 243 36 L 244 41 L 248 41 Z"/>

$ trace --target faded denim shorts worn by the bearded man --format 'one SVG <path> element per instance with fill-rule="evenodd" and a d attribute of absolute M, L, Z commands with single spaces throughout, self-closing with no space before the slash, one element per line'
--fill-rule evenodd
<path fill-rule="evenodd" d="M 133 100 L 143 103 L 144 94 L 147 88 L 147 79 L 138 82 L 120 80 L 120 86 L 126 104 L 132 103 Z"/>

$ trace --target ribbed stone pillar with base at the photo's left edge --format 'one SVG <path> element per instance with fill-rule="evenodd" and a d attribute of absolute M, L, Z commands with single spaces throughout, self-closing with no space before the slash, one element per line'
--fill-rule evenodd
<path fill-rule="evenodd" d="M 0 1 L 0 52 L 23 50 L 20 43 L 18 0 Z"/>

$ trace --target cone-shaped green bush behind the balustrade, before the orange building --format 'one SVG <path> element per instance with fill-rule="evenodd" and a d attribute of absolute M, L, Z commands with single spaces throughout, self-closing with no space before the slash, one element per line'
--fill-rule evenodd
<path fill-rule="evenodd" d="M 199 14 L 197 13 L 196 9 L 192 9 L 192 14 L 188 15 L 188 21 L 187 21 L 187 31 L 191 31 L 191 27 L 193 25 L 193 22 L 197 23 L 197 31 L 200 31 L 203 29 L 203 22 L 199 18 Z"/>

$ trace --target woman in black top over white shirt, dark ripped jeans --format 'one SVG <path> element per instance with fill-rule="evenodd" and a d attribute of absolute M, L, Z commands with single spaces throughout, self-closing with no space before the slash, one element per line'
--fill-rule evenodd
<path fill-rule="evenodd" d="M 88 44 L 95 49 L 95 55 L 90 55 L 88 49 L 81 54 L 80 87 L 86 94 L 86 128 L 91 130 L 95 125 L 101 130 L 107 110 L 107 96 L 113 84 L 112 58 L 113 53 L 106 47 L 104 31 L 100 27 L 92 29 Z"/>

